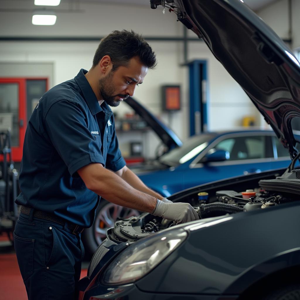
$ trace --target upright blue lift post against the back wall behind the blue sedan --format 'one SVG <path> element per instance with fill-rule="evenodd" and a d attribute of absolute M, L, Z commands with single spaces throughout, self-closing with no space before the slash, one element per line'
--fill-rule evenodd
<path fill-rule="evenodd" d="M 190 76 L 190 136 L 193 136 L 208 130 L 207 61 L 194 60 L 187 65 Z"/>

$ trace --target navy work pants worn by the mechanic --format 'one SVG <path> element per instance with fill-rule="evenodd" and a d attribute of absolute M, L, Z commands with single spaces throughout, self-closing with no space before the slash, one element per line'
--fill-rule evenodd
<path fill-rule="evenodd" d="M 21 213 L 13 236 L 29 300 L 77 299 L 84 256 L 80 234 Z"/>

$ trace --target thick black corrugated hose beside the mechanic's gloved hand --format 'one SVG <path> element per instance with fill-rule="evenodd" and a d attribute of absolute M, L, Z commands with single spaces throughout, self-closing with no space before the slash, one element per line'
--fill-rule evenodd
<path fill-rule="evenodd" d="M 200 219 L 222 216 L 224 214 L 234 214 L 244 211 L 244 208 L 227 203 L 201 204 L 196 208 Z"/>

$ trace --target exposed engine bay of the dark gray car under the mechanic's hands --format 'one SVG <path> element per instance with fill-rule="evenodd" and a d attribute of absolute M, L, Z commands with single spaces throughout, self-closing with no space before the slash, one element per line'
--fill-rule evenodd
<path fill-rule="evenodd" d="M 297 178 L 300 174 L 296 171 L 300 172 L 300 170 L 294 170 L 289 174 L 283 174 L 282 177 L 278 177 L 276 174 L 275 178 L 256 181 L 254 187 L 253 181 L 248 184 L 246 182 L 245 184 L 228 185 L 228 187 L 240 186 L 242 188 L 240 191 L 222 190 L 208 186 L 207 191 L 194 189 L 193 193 L 189 195 L 182 197 L 179 195 L 177 199 L 171 200 L 190 203 L 199 215 L 199 219 L 247 213 L 258 209 L 271 209 L 299 199 L 300 189 L 295 187 L 300 185 L 300 180 Z M 107 231 L 107 236 L 117 244 L 134 242 L 171 226 L 176 226 L 176 224 L 173 221 L 143 213 L 137 217 L 118 219 L 114 228 Z"/>

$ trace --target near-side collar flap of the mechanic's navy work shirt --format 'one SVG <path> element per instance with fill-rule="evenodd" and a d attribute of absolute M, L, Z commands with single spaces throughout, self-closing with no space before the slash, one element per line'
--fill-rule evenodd
<path fill-rule="evenodd" d="M 91 113 L 95 115 L 96 113 L 99 113 L 103 110 L 101 106 L 103 106 L 104 103 L 101 106 L 99 105 L 98 99 L 94 91 L 92 90 L 90 84 L 88 83 L 88 80 L 84 76 L 86 73 L 88 73 L 87 70 L 81 69 L 74 79 L 79 85 L 79 88 L 81 89 L 83 94 L 83 98 L 88 104 Z"/>

